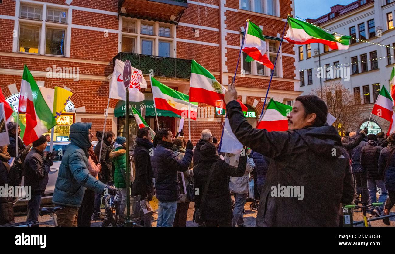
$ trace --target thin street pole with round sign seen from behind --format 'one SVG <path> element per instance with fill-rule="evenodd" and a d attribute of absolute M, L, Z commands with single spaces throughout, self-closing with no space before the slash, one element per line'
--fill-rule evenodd
<path fill-rule="evenodd" d="M 132 64 L 126 60 L 123 81 L 126 87 L 126 223 L 130 222 L 130 159 L 129 159 L 129 86 L 132 76 Z"/>

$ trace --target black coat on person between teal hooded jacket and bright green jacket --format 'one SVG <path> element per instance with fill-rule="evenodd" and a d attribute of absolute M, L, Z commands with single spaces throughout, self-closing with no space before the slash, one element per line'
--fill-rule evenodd
<path fill-rule="evenodd" d="M 97 131 L 96 137 L 99 143 L 97 143 L 94 153 L 98 157 L 98 160 L 102 163 L 102 173 L 100 174 L 102 179 L 100 181 L 102 181 L 103 183 L 110 183 L 114 180 L 114 174 L 112 172 L 113 162 L 110 158 L 110 152 L 111 150 L 113 150 L 113 148 L 111 144 L 107 142 L 107 135 L 104 134 L 102 154 L 99 158 L 100 143 L 102 142 L 102 132 Z"/>

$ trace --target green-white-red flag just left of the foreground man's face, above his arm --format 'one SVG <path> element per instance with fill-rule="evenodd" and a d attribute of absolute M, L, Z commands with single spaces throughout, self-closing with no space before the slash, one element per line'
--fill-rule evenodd
<path fill-rule="evenodd" d="M 270 99 L 269 104 L 267 104 L 265 115 L 263 115 L 262 120 L 258 123 L 256 128 L 266 129 L 268 132 L 288 130 L 287 115 L 291 110 L 291 106 Z"/>

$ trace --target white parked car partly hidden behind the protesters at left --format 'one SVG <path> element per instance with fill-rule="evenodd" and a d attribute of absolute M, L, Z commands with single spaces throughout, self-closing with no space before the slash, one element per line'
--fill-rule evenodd
<path fill-rule="evenodd" d="M 93 147 L 96 146 L 98 141 L 92 141 Z M 67 146 L 70 144 L 70 141 L 54 141 L 53 142 L 53 151 L 56 151 L 55 157 L 53 159 L 53 165 L 51 166 L 51 169 L 49 170 L 49 180 L 47 184 L 47 188 L 45 189 L 45 192 L 42 196 L 41 199 L 41 205 L 47 205 L 52 203 L 52 196 L 53 192 L 55 190 L 55 183 L 56 179 L 58 178 L 58 171 L 60 167 L 60 163 L 62 162 L 62 157 L 64 152 L 66 151 Z M 47 145 L 47 148 L 45 148 L 44 151 L 44 158 L 47 156 L 47 153 L 49 152 L 49 143 Z M 21 186 L 24 184 L 24 177 L 22 177 L 22 183 Z M 18 197 L 18 201 L 15 204 L 14 207 L 17 208 L 17 210 L 23 210 L 24 207 L 27 206 L 28 200 L 26 200 L 26 197 Z M 19 208 L 19 209 L 18 209 Z"/>

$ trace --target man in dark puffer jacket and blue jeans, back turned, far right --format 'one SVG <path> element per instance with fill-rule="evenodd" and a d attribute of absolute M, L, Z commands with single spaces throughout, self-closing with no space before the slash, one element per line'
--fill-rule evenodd
<path fill-rule="evenodd" d="M 368 135 L 368 145 L 362 147 L 361 150 L 361 166 L 366 172 L 366 179 L 369 190 L 369 204 L 376 203 L 377 188 L 380 188 L 380 196 L 378 202 L 385 202 L 387 199 L 387 190 L 384 181 L 378 174 L 378 158 L 383 148 L 378 145 L 376 134 Z M 384 205 L 371 208 L 371 217 L 380 216 L 384 209 Z"/>

